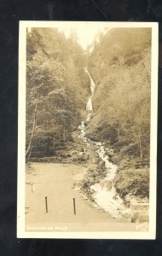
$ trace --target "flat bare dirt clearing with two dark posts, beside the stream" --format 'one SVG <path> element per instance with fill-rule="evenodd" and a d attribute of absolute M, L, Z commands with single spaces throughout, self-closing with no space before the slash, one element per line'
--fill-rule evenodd
<path fill-rule="evenodd" d="M 31 173 L 26 174 L 26 230 L 136 231 L 136 224 L 118 222 L 107 212 L 92 207 L 74 189 L 84 171 L 84 167 L 70 164 L 32 163 Z"/>

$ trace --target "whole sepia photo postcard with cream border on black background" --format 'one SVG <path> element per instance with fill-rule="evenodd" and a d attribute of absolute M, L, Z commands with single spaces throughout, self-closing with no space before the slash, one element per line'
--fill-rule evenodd
<path fill-rule="evenodd" d="M 20 21 L 17 236 L 155 239 L 158 23 Z"/>

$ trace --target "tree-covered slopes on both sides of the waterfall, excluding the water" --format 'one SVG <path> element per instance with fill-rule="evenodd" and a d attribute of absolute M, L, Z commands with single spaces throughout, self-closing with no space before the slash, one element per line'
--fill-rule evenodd
<path fill-rule="evenodd" d="M 73 140 L 85 119 L 95 81 L 86 137 L 115 157 L 149 158 L 151 28 L 105 29 L 85 51 L 75 29 L 26 32 L 26 159 L 53 156 Z"/>

